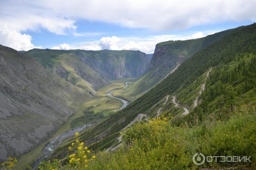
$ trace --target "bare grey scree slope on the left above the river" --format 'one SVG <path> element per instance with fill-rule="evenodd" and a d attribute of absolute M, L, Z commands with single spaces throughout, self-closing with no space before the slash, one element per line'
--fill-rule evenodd
<path fill-rule="evenodd" d="M 32 57 L 0 45 L 0 160 L 43 142 L 90 98 Z"/>

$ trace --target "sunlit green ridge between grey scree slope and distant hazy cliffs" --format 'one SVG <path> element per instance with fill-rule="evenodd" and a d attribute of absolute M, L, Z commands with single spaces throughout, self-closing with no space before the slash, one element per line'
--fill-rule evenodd
<path fill-rule="evenodd" d="M 44 68 L 58 74 L 73 85 L 83 88 L 85 91 L 93 93 L 94 89 L 108 83 L 108 80 L 102 79 L 96 71 L 82 63 L 70 51 L 32 49 L 27 51 L 26 54 L 34 57 Z M 60 68 L 64 68 L 62 72 L 59 71 Z"/>

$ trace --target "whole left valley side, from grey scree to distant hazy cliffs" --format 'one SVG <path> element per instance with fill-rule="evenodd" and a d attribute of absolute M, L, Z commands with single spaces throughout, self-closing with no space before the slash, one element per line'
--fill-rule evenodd
<path fill-rule="evenodd" d="M 1 45 L 0 162 L 44 142 L 111 80 L 140 77 L 149 60 L 140 51 L 20 53 Z"/>

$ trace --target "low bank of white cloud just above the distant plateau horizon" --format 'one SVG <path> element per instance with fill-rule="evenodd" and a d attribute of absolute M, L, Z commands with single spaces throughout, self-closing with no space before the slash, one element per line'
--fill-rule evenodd
<path fill-rule="evenodd" d="M 102 37 L 99 41 L 83 42 L 76 45 L 61 44 L 52 49 L 83 49 L 83 50 L 140 50 L 147 54 L 154 53 L 155 45 L 169 40 L 189 40 L 205 37 L 214 32 L 196 32 L 192 35 L 158 35 L 146 38 L 133 37 Z"/>

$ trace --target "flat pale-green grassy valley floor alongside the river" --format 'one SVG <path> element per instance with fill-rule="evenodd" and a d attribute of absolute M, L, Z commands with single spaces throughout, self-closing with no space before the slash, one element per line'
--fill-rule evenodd
<path fill-rule="evenodd" d="M 89 123 L 95 123 L 99 121 L 99 117 L 93 118 L 91 121 L 87 121 L 85 111 L 89 111 L 90 113 L 103 113 L 106 114 L 105 116 L 107 117 L 113 112 L 116 112 L 119 110 L 119 108 L 122 107 L 122 102 L 118 99 L 113 99 L 110 96 L 107 96 L 106 94 L 109 91 L 112 91 L 114 89 L 123 89 L 126 85 L 126 82 L 132 81 L 133 78 L 123 78 L 123 79 L 117 79 L 111 81 L 111 84 L 105 85 L 104 87 L 100 88 L 95 96 L 92 96 L 91 99 L 85 99 L 85 101 L 81 101 L 81 105 L 79 107 L 79 110 L 76 111 L 73 116 L 70 116 L 70 118 L 67 120 L 67 122 L 60 128 L 58 131 L 47 141 L 43 142 L 40 144 L 38 147 L 35 149 L 31 150 L 28 153 L 23 154 L 20 156 L 18 159 L 17 166 L 15 167 L 16 170 L 24 169 L 26 166 L 29 164 L 32 164 L 36 159 L 40 158 L 43 153 L 42 150 L 46 146 L 46 144 L 49 141 L 52 141 L 55 139 L 56 136 L 59 136 L 60 134 L 67 132 L 74 127 L 79 127 L 84 124 L 89 124 Z M 93 115 L 94 115 L 93 114 Z M 83 117 L 84 116 L 84 117 Z M 103 118 L 104 119 L 104 118 Z M 79 120 L 79 121 L 77 121 Z"/>

